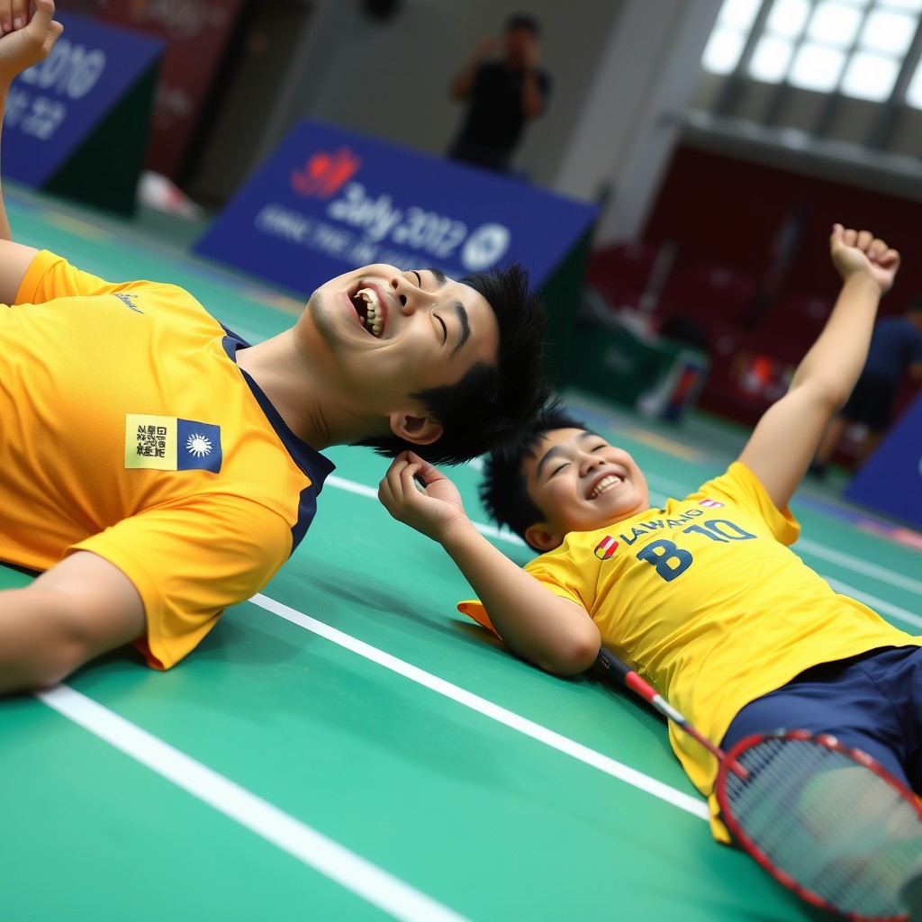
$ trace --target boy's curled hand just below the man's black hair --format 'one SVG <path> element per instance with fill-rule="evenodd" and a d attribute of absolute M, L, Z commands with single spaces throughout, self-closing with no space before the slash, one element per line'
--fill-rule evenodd
<path fill-rule="evenodd" d="M 425 484 L 423 490 L 417 478 Z M 378 499 L 398 522 L 440 544 L 453 526 L 468 521 L 455 484 L 413 452 L 397 455 L 387 468 Z"/>

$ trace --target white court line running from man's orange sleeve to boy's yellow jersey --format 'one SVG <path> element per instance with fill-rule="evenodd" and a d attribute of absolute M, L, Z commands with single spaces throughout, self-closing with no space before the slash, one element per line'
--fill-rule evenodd
<path fill-rule="evenodd" d="M 332 641 L 334 644 L 345 647 L 347 650 L 351 650 L 352 653 L 356 653 L 359 656 L 364 656 L 365 659 L 371 660 L 372 663 L 377 663 L 379 666 L 390 669 L 392 672 L 396 672 L 398 675 L 410 681 L 414 681 L 431 691 L 435 691 L 437 694 L 450 698 L 452 701 L 462 704 L 472 711 L 477 711 L 485 717 L 490 717 L 491 720 L 495 720 L 505 727 L 510 727 L 511 729 L 517 730 L 519 733 L 524 733 L 527 737 L 531 737 L 531 739 L 536 739 L 538 742 L 550 746 L 551 749 L 569 755 L 579 762 L 585 762 L 585 764 L 591 765 L 593 768 L 597 768 L 605 774 L 610 774 L 612 777 L 618 778 L 626 784 L 637 787 L 647 794 L 652 794 L 655 798 L 665 800 L 674 807 L 691 813 L 692 816 L 700 817 L 703 820 L 708 818 L 707 807 L 699 798 L 691 797 L 691 795 L 685 794 L 675 787 L 670 787 L 661 781 L 656 781 L 656 778 L 651 778 L 643 774 L 643 772 L 638 772 L 636 769 L 630 768 L 621 762 L 617 762 L 609 758 L 609 756 L 603 755 L 601 752 L 591 750 L 582 743 L 561 736 L 560 733 L 555 733 L 547 727 L 542 727 L 540 724 L 536 724 L 526 717 L 517 715 L 513 711 L 501 707 L 499 704 L 494 704 L 471 691 L 453 685 L 451 682 L 440 679 L 438 676 L 433 676 L 431 672 L 426 672 L 423 669 L 405 663 L 396 656 L 384 653 L 384 650 L 379 650 L 377 647 L 366 644 L 364 641 L 358 640 L 348 633 L 330 627 L 329 624 L 325 624 L 323 621 L 317 621 L 315 618 L 311 618 L 310 615 L 305 615 L 301 611 L 291 609 L 289 606 L 277 602 L 274 598 L 259 594 L 252 597 L 250 601 L 253 602 L 254 605 L 258 605 L 260 608 L 271 611 L 280 618 L 284 618 L 286 621 L 291 621 L 292 624 L 297 624 L 299 627 L 305 628 L 320 637 L 324 637 L 325 640 Z"/>

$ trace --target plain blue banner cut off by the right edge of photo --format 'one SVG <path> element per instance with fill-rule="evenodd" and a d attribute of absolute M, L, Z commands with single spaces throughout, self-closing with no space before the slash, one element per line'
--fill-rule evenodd
<path fill-rule="evenodd" d="M 845 496 L 922 528 L 922 395 L 857 472 Z"/>

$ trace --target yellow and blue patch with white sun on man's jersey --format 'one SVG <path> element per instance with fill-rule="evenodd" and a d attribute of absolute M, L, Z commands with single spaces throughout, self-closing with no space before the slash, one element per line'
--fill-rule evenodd
<path fill-rule="evenodd" d="M 221 469 L 221 428 L 175 416 L 128 413 L 124 466 L 129 470 Z"/>

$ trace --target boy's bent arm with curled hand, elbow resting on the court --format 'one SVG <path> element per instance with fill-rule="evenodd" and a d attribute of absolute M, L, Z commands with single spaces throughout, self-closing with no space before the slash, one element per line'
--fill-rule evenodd
<path fill-rule="evenodd" d="M 425 491 L 416 477 L 425 482 Z M 378 496 L 397 521 L 443 546 L 515 653 L 563 676 L 596 661 L 601 637 L 588 612 L 556 596 L 494 548 L 467 517 L 455 485 L 435 467 L 412 452 L 399 455 Z"/>

